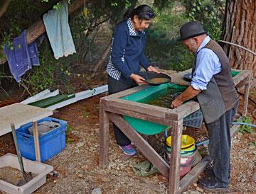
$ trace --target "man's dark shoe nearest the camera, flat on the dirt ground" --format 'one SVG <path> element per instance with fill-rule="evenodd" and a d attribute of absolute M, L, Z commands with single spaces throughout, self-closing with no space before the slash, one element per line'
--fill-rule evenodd
<path fill-rule="evenodd" d="M 201 186 L 201 188 L 205 189 L 205 190 L 209 190 L 209 191 L 227 191 L 228 190 L 228 186 L 224 186 L 223 183 L 220 183 L 218 181 L 215 180 L 214 177 L 210 178 L 210 179 L 204 179 L 199 181 L 199 186 Z"/>

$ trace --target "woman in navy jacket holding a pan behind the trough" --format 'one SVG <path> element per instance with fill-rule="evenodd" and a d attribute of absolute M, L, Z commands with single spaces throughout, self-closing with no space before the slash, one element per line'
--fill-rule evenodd
<path fill-rule="evenodd" d="M 114 30 L 110 61 L 107 64 L 107 84 L 110 94 L 145 84 L 143 76 L 146 74 L 139 72 L 140 64 L 149 72 L 159 73 L 144 55 L 146 44 L 144 30 L 149 28 L 154 17 L 155 13 L 151 7 L 141 5 L 124 13 L 124 21 Z M 124 154 L 137 154 L 129 138 L 116 125 L 114 125 L 114 135 Z"/>

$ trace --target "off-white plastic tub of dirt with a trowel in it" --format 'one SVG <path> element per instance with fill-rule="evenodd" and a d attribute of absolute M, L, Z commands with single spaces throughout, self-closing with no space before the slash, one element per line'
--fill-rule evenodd
<path fill-rule="evenodd" d="M 43 164 L 38 161 L 31 161 L 25 158 L 23 158 L 23 165 L 26 172 L 31 172 L 37 176 L 20 187 L 0 180 L 0 190 L 11 194 L 33 193 L 33 191 L 37 190 L 43 186 L 44 183 L 46 183 L 46 175 L 50 173 L 50 171 L 53 171 L 53 166 Z M 5 154 L 4 156 L 0 157 L 0 168 L 4 166 L 10 166 L 18 170 L 21 169 L 18 164 L 18 158 L 14 154 Z"/>

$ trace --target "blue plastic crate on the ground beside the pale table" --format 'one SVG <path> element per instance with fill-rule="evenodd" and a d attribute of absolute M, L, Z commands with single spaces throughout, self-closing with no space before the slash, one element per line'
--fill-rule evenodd
<path fill-rule="evenodd" d="M 64 120 L 58 120 L 56 118 L 43 118 L 38 120 L 38 123 L 43 121 L 58 122 L 60 127 L 57 127 L 55 130 L 52 130 L 46 135 L 39 137 L 39 147 L 42 162 L 52 158 L 65 148 L 65 130 L 67 130 L 67 122 Z M 28 131 L 28 128 L 32 125 L 33 123 L 29 122 L 28 124 L 18 128 L 16 133 L 18 144 L 21 149 L 21 155 L 26 159 L 36 160 L 34 138 L 33 135 L 30 135 Z"/>

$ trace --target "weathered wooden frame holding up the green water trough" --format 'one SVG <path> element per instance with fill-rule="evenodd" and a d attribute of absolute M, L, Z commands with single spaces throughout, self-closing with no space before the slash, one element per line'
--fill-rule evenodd
<path fill-rule="evenodd" d="M 250 89 L 251 71 L 241 71 L 233 78 L 237 87 L 245 86 L 245 101 L 243 115 L 247 113 L 247 103 Z M 198 175 L 203 172 L 210 161 L 208 156 L 204 157 L 193 169 L 180 181 L 180 155 L 181 137 L 183 129 L 183 118 L 199 109 L 199 104 L 190 101 L 178 108 L 161 108 L 155 105 L 148 105 L 120 99 L 149 86 L 137 86 L 126 91 L 114 93 L 110 96 L 100 98 L 100 166 L 108 165 L 109 150 L 109 124 L 110 120 L 119 127 L 122 132 L 136 145 L 136 147 L 151 161 L 160 173 L 169 178 L 169 193 L 182 193 L 191 183 L 195 182 Z M 122 115 L 156 122 L 171 127 L 171 161 L 169 164 L 149 145 L 148 142 L 135 131 L 129 123 L 122 118 Z"/>

